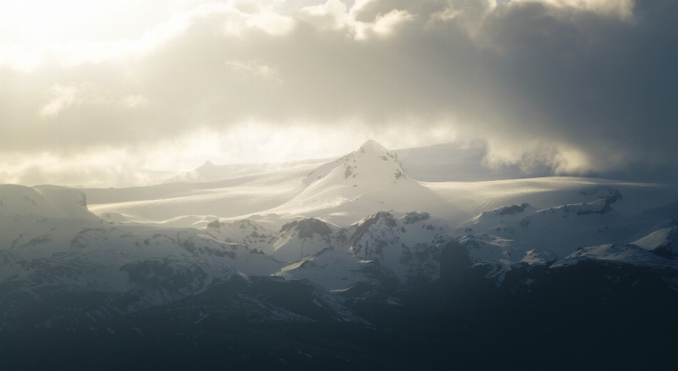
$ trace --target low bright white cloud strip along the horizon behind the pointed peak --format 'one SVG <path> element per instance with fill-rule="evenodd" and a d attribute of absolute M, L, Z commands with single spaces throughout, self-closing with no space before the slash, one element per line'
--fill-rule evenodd
<path fill-rule="evenodd" d="M 222 131 L 197 128 L 184 136 L 136 146 L 94 146 L 68 153 L 6 152 L 0 158 L 0 184 L 133 187 L 157 183 L 160 175 L 167 178 L 194 170 L 206 160 L 222 165 L 333 158 L 355 151 L 367 139 L 395 149 L 444 143 L 455 135 L 444 122 L 376 130 L 359 120 L 343 127 L 251 121 Z"/>

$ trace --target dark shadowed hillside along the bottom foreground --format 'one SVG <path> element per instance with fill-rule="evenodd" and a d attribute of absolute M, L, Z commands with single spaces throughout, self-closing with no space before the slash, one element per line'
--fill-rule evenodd
<path fill-rule="evenodd" d="M 672 369 L 676 271 L 581 261 L 513 269 L 497 285 L 456 242 L 440 260 L 431 283 L 345 291 L 366 323 L 335 320 L 304 281 L 233 279 L 105 322 L 0 331 L 2 368 Z M 305 319 L 266 319 L 248 298 Z"/>

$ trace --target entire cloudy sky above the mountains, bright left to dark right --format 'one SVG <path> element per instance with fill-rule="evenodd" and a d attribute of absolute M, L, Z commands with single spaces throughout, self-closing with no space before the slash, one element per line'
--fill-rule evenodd
<path fill-rule="evenodd" d="M 0 1 L 0 183 L 483 148 L 678 182 L 678 1 Z"/>

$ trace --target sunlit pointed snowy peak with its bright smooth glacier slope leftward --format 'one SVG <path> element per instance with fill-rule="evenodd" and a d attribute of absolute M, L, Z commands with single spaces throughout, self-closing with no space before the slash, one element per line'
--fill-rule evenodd
<path fill-rule="evenodd" d="M 350 225 L 384 210 L 434 215 L 450 210 L 448 201 L 408 177 L 397 156 L 374 141 L 322 165 L 302 163 L 202 182 L 82 191 L 99 216 L 175 227 L 272 214 L 281 218 L 276 228 L 299 216 Z"/>

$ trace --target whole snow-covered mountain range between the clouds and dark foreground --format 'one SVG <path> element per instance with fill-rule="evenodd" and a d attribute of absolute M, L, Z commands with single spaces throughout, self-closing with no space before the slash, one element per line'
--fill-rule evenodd
<path fill-rule="evenodd" d="M 515 291 L 584 266 L 678 268 L 672 185 L 425 183 L 374 141 L 268 172 L 211 167 L 208 180 L 129 189 L 0 185 L 0 327 L 188 308 L 217 292 L 232 314 L 362 322 L 458 269 Z"/>

